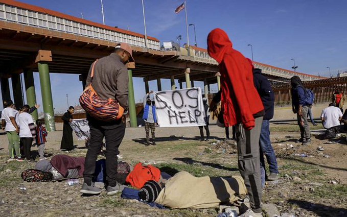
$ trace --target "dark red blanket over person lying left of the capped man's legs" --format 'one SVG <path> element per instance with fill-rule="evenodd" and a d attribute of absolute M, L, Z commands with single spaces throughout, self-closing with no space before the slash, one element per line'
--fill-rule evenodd
<path fill-rule="evenodd" d="M 78 169 L 78 175 L 82 177 L 84 172 L 84 161 L 84 157 L 55 155 L 50 162 L 52 166 L 66 178 L 68 173 L 67 170 L 76 168 Z"/>

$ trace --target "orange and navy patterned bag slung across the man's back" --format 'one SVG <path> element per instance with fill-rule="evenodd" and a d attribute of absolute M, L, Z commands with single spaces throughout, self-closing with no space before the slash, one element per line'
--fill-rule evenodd
<path fill-rule="evenodd" d="M 91 80 L 94 77 L 94 66 L 97 62 L 98 60 L 96 60 L 91 67 Z M 120 119 L 124 113 L 124 108 L 119 105 L 117 100 L 101 99 L 91 86 L 91 82 L 89 86 L 84 89 L 79 102 L 90 116 L 106 122 Z"/>

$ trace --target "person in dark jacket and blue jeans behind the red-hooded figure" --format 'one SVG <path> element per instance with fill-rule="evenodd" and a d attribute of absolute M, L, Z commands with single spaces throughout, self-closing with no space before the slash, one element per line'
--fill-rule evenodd
<path fill-rule="evenodd" d="M 253 69 L 253 81 L 260 98 L 262 99 L 265 115 L 262 123 L 262 129 L 259 138 L 259 146 L 260 146 L 260 167 L 261 171 L 264 173 L 262 177 L 262 186 L 265 185 L 265 178 L 267 180 L 277 180 L 279 178 L 279 169 L 277 167 L 277 160 L 275 156 L 275 152 L 271 146 L 270 141 L 270 124 L 269 120 L 273 117 L 274 110 L 274 94 L 271 88 L 269 80 L 262 75 L 262 69 L 255 68 Z M 265 160 L 264 154 L 266 156 L 267 163 L 269 164 L 270 175 L 266 176 L 265 173 Z"/>

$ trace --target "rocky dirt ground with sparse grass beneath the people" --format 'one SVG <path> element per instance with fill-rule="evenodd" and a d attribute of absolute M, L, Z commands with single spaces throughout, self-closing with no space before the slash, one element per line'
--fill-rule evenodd
<path fill-rule="evenodd" d="M 318 128 L 318 127 L 316 127 Z M 46 153 L 85 156 L 83 141 L 75 140 L 72 153 L 59 150 L 61 126 L 49 134 Z M 187 171 L 195 176 L 239 174 L 233 141 L 225 142 L 224 129 L 211 126 L 210 141 L 200 142 L 198 128 L 157 128 L 157 146 L 144 146 L 144 128 L 127 128 L 121 144 L 122 160 L 155 164 L 171 175 Z M 230 129 L 231 130 L 231 129 Z M 231 132 L 230 132 L 231 133 Z M 312 138 L 303 147 L 296 143 L 298 127 L 294 124 L 271 124 L 281 178 L 267 182 L 263 190 L 264 216 L 347 216 L 347 146 L 346 138 L 336 143 Z M 221 140 L 221 141 L 220 141 Z M 146 204 L 124 200 L 120 195 L 81 197 L 78 185 L 67 181 L 29 183 L 20 174 L 34 163 L 8 159 L 6 135 L 0 136 L 0 216 L 216 216 L 212 209 L 154 209 Z M 324 151 L 318 151 L 322 147 Z M 36 148 L 32 149 L 33 152 Z"/>

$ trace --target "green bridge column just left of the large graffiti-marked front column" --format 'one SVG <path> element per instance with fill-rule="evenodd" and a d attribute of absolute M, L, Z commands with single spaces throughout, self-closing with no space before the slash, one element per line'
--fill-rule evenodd
<path fill-rule="evenodd" d="M 34 84 L 34 74 L 32 70 L 24 71 L 24 82 L 26 84 L 27 103 L 30 107 L 36 105 L 36 93 Z M 38 119 L 37 109 L 31 113 L 34 120 Z"/>

